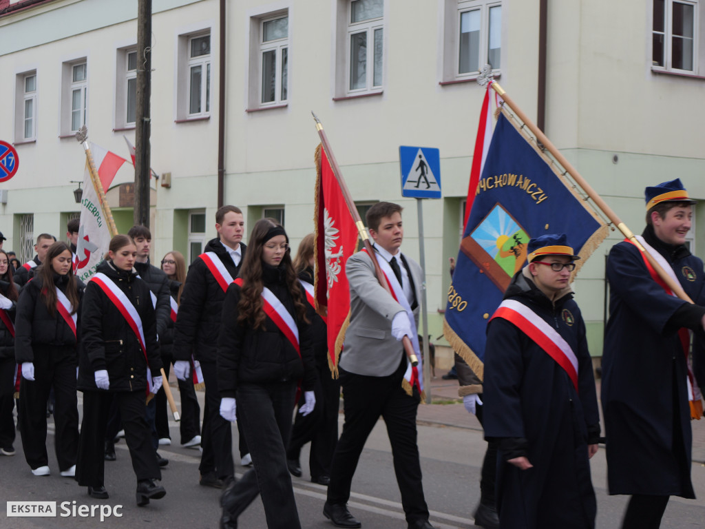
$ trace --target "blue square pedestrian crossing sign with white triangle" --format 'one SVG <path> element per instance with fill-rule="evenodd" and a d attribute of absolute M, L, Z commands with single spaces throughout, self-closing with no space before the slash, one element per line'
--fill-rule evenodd
<path fill-rule="evenodd" d="M 433 147 L 399 147 L 403 197 L 441 198 L 441 153 Z"/>

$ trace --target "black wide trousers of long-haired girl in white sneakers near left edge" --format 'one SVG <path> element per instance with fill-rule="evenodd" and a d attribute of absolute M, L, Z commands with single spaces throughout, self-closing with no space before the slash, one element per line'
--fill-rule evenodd
<path fill-rule="evenodd" d="M 78 396 L 73 348 L 34 347 L 35 379 L 20 383 L 22 449 L 30 468 L 49 465 L 47 454 L 47 399 L 54 386 L 54 449 L 59 470 L 76 464 L 78 451 Z"/>

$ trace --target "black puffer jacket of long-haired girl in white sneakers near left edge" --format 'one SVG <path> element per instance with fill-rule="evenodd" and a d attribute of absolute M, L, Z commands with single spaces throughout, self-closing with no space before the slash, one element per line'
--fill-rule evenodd
<path fill-rule="evenodd" d="M 66 293 L 68 280 L 72 276 L 67 274 L 60 276 L 53 274 L 54 285 L 59 290 Z M 73 276 L 78 288 L 79 300 L 83 295 L 84 285 Z M 50 288 L 54 288 L 52 285 Z M 32 281 L 29 281 L 22 292 L 20 299 L 17 302 L 17 312 L 15 316 L 15 358 L 17 363 L 34 362 L 35 353 L 33 346 L 51 346 L 50 349 L 43 348 L 44 351 L 56 351 L 58 354 L 71 354 L 78 360 L 76 353 L 76 345 L 78 343 L 76 336 L 73 334 L 71 327 L 63 320 L 63 317 L 58 311 L 54 311 L 54 315 L 49 315 L 47 305 L 44 305 L 44 299 L 41 294 L 44 282 L 39 276 L 35 276 Z M 76 324 L 76 332 L 78 340 L 80 340 L 80 320 L 81 320 L 81 305 L 78 305 L 78 323 Z M 68 347 L 67 347 L 68 346 Z M 55 348 L 55 349 L 54 349 Z"/>

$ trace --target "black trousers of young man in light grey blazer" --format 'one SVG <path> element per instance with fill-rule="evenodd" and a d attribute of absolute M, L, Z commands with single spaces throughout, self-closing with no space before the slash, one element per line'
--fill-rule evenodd
<path fill-rule="evenodd" d="M 424 499 L 417 446 L 419 396 L 417 393 L 409 396 L 401 387 L 405 367 L 406 358 L 403 358 L 398 370 L 387 377 L 355 375 L 340 369 L 345 424 L 331 464 L 328 501 L 345 504 L 350 499 L 350 484 L 357 461 L 369 433 L 381 416 L 391 442 L 394 472 L 406 519 L 408 523 L 414 523 L 428 520 L 429 509 Z"/>

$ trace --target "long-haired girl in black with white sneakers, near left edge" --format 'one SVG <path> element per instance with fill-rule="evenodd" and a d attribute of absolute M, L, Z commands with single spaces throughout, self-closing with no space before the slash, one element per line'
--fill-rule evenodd
<path fill-rule="evenodd" d="M 15 320 L 15 356 L 22 364 L 22 447 L 32 474 L 49 475 L 47 398 L 53 386 L 56 459 L 61 475 L 73 476 L 78 450 L 77 329 L 83 284 L 73 275 L 66 243 L 52 244 L 44 257 L 35 277 L 22 289 Z"/>

